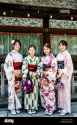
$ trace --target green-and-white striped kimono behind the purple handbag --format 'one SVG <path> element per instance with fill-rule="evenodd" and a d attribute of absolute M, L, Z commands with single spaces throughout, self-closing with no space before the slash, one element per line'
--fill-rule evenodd
<path fill-rule="evenodd" d="M 23 78 L 27 78 L 27 73 L 29 72 L 30 77 L 32 79 L 34 89 L 32 93 L 27 94 L 24 92 L 24 108 L 26 110 L 38 110 L 38 68 L 36 71 L 31 71 L 29 66 L 39 64 L 39 58 L 34 57 L 31 58 L 30 55 L 24 58 L 23 65 L 22 65 L 22 74 Z"/>

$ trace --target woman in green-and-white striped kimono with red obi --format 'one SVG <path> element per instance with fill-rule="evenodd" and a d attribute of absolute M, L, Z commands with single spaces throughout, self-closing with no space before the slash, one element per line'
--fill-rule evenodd
<path fill-rule="evenodd" d="M 36 56 L 36 47 L 30 45 L 28 56 L 24 58 L 22 65 L 23 81 L 27 78 L 27 73 L 29 72 L 34 86 L 32 93 L 27 94 L 24 92 L 24 109 L 29 114 L 36 113 L 38 110 L 38 64 L 39 58 Z"/>

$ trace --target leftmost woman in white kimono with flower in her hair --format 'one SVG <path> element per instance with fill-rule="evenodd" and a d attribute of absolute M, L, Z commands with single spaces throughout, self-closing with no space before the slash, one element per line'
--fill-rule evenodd
<path fill-rule="evenodd" d="M 4 63 L 4 70 L 8 80 L 8 110 L 11 114 L 20 113 L 21 109 L 21 69 L 23 57 L 19 53 L 21 43 L 12 41 L 13 50 L 8 53 Z"/>

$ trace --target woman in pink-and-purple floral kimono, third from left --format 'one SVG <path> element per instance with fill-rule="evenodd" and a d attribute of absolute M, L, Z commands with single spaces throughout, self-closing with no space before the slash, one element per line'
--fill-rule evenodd
<path fill-rule="evenodd" d="M 42 75 L 40 79 L 41 103 L 45 113 L 52 115 L 55 110 L 55 81 L 57 73 L 57 62 L 51 53 L 48 43 L 43 47 L 44 56 L 41 58 Z"/>

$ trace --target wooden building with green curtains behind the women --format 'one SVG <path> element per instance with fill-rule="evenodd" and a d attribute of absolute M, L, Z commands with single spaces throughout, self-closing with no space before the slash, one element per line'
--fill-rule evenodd
<path fill-rule="evenodd" d="M 72 4 L 71 4 L 72 2 Z M 67 5 L 67 6 L 66 6 Z M 33 43 L 37 54 L 41 54 L 45 42 L 51 43 L 54 54 L 58 43 L 68 41 L 72 55 L 74 74 L 72 79 L 72 101 L 77 101 L 77 2 L 74 0 L 5 0 L 0 3 L 0 99 L 7 97 L 7 81 L 4 78 L 3 63 L 11 50 L 11 40 L 22 42 L 21 53 L 27 52 Z"/>

